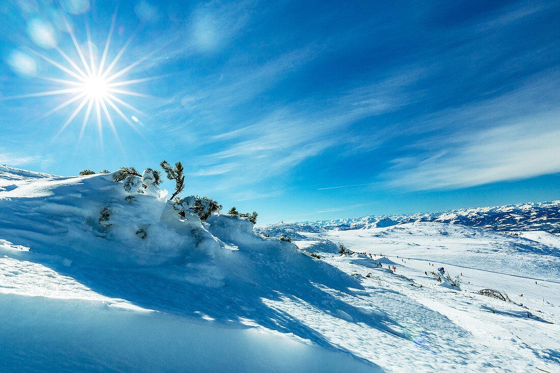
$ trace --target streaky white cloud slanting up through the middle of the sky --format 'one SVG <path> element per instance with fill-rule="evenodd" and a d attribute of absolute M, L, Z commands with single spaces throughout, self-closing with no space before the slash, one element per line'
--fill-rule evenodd
<path fill-rule="evenodd" d="M 281 174 L 310 157 L 352 143 L 344 132 L 358 120 L 388 113 L 407 104 L 397 91 L 401 83 L 385 81 L 354 88 L 337 99 L 301 101 L 277 109 L 257 123 L 209 137 L 226 143 L 221 151 L 200 157 L 197 174 L 231 174 L 236 183 L 254 183 Z M 383 133 L 380 131 L 380 133 Z M 346 136 L 345 136 L 346 135 Z M 388 137 L 385 137 L 387 139 Z M 380 138 L 368 137 L 363 148 Z M 227 164 L 227 167 L 223 167 Z"/>

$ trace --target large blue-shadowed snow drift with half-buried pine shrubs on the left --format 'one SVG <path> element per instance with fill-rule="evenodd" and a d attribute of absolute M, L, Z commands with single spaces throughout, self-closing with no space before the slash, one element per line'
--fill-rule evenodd
<path fill-rule="evenodd" d="M 317 305 L 328 301 L 333 313 L 340 308 L 356 314 L 351 306 L 334 301 L 316 287 L 321 284 L 347 292 L 348 287 L 360 287 L 356 279 L 309 257 L 289 242 L 256 234 L 245 218 L 213 215 L 201 222 L 189 212 L 183 218 L 165 198 L 165 191 L 153 185 L 143 188 L 141 179 L 133 180 L 132 188 L 124 188 L 124 183 L 115 183 L 113 176 L 34 177 L 27 172 L 25 177 L 10 180 L 10 188 L 0 191 L 0 253 L 10 260 L 4 264 L 14 268 L 6 276 L 36 281 L 36 275 L 29 277 L 33 272 L 30 268 L 37 265 L 33 263 L 45 266 L 41 272 L 50 273 L 46 281 L 50 285 L 41 283 L 30 292 L 25 290 L 27 285 L 15 285 L 13 279 L 0 284 L 7 288 L 0 293 L 11 293 L 9 297 L 0 295 L 4 305 L 0 309 L 7 323 L 0 328 L 4 368 L 40 370 L 45 355 L 54 354 L 57 358 L 49 361 L 52 366 L 45 365 L 53 371 L 72 370 L 66 365 L 67 358 L 75 358 L 79 370 L 93 366 L 105 371 L 125 367 L 136 370 L 142 366 L 138 370 L 153 371 L 157 364 L 146 363 L 146 358 L 134 362 L 130 357 L 141 356 L 145 342 L 157 345 L 146 357 L 165 360 L 160 366 L 167 366 L 164 370 L 169 371 L 225 367 L 260 371 L 270 365 L 278 371 L 297 367 L 312 370 L 312 366 L 343 371 L 348 365 L 357 371 L 376 371 L 375 364 L 346 355 L 268 303 L 279 297 L 297 297 Z M 68 278 L 86 285 L 86 293 L 100 295 L 94 298 L 97 302 L 120 300 L 117 303 L 122 305 L 125 300 L 133 313 L 162 311 L 179 319 L 147 318 L 144 311 L 139 315 L 106 313 L 88 303 L 91 301 L 82 290 L 63 291 L 69 286 Z M 14 286 L 16 290 L 10 290 Z M 20 296 L 46 295 L 49 286 L 58 289 L 57 297 L 64 293 L 61 298 L 76 297 L 80 301 Z M 16 313 L 16 309 L 22 311 Z M 78 321 L 83 315 L 89 315 L 87 327 Z M 43 321 L 38 322 L 38 318 Z M 379 320 L 388 328 L 395 324 L 386 315 Z M 185 324 L 209 321 L 217 324 Z M 271 331 L 282 334 L 258 337 L 253 332 L 227 329 L 232 327 L 257 327 L 268 331 L 265 335 Z M 106 334 L 91 333 L 98 329 Z M 27 337 L 16 337 L 20 334 Z M 190 335 L 204 335 L 206 342 L 200 344 Z M 148 336 L 156 342 L 148 341 Z M 174 346 L 178 338 L 183 342 Z M 87 342 L 74 350 L 83 339 Z M 304 347 L 301 342 L 326 350 Z M 300 352 L 295 352 L 293 343 L 300 346 Z M 126 352 L 111 348 L 122 344 L 128 345 Z M 200 346 L 208 351 L 201 352 Z M 66 351 L 68 348 L 72 351 Z M 80 352 L 90 348 L 85 355 Z M 190 356 L 189 350 L 197 355 Z M 27 354 L 25 361 L 17 358 L 20 353 Z M 226 360 L 213 359 L 216 355 L 226 356 Z"/>

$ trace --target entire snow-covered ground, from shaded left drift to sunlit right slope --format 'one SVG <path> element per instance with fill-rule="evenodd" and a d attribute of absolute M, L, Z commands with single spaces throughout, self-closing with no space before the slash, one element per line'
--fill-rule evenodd
<path fill-rule="evenodd" d="M 559 371 L 550 242 L 443 223 L 265 237 L 111 174 L 2 171 L 1 371 Z M 440 265 L 460 289 L 424 274 Z"/>

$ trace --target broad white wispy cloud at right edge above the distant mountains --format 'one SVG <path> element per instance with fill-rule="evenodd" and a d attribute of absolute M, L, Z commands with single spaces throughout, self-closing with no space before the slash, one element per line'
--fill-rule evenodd
<path fill-rule="evenodd" d="M 410 190 L 455 189 L 560 172 L 560 79 L 535 77 L 514 92 L 441 111 L 424 122 L 445 129 L 395 158 L 388 184 Z"/>

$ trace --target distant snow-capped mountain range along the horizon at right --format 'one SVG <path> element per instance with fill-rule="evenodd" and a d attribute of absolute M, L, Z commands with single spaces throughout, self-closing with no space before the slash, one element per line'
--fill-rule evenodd
<path fill-rule="evenodd" d="M 560 201 L 508 204 L 497 207 L 415 213 L 410 215 L 364 216 L 336 220 L 307 221 L 325 229 L 349 230 L 388 227 L 413 222 L 441 222 L 481 227 L 496 231 L 560 232 Z"/>

